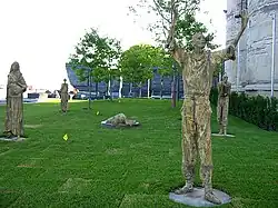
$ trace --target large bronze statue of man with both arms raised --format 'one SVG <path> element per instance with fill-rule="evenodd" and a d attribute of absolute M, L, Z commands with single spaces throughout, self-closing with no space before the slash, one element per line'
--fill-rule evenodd
<path fill-rule="evenodd" d="M 173 11 L 172 24 L 167 39 L 166 48 L 172 53 L 175 60 L 182 68 L 185 100 L 181 108 L 182 116 L 182 174 L 186 185 L 176 190 L 178 195 L 193 191 L 195 166 L 197 155 L 200 157 L 200 178 L 205 187 L 205 199 L 221 204 L 212 191 L 212 158 L 211 158 L 211 129 L 210 129 L 210 89 L 216 63 L 222 60 L 235 60 L 235 48 L 246 26 L 247 14 L 241 14 L 241 29 L 237 38 L 228 48 L 219 51 L 207 51 L 207 40 L 202 33 L 192 37 L 192 51 L 186 51 L 175 41 L 175 24 L 177 11 Z"/>

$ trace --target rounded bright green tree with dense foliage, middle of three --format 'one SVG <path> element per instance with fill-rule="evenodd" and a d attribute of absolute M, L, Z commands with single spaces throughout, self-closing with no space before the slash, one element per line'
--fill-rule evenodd
<path fill-rule="evenodd" d="M 161 48 L 150 44 L 132 46 L 121 56 L 121 76 L 131 85 L 139 86 L 141 96 L 142 83 L 151 79 L 153 68 L 162 68 L 167 59 L 169 58 L 166 57 L 166 52 Z"/>

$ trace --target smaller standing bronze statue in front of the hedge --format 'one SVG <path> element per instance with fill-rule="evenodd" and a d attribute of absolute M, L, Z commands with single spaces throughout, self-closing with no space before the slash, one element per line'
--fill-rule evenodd
<path fill-rule="evenodd" d="M 217 103 L 217 121 L 219 123 L 219 135 L 227 135 L 228 111 L 229 111 L 229 96 L 231 83 L 228 77 L 218 83 L 218 103 Z"/>

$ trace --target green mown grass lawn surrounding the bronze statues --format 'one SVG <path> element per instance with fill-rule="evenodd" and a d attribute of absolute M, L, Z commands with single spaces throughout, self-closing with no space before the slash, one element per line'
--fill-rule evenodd
<path fill-rule="evenodd" d="M 73 102 L 68 115 L 59 112 L 59 103 L 26 105 L 29 138 L 0 142 L 0 207 L 186 207 L 168 199 L 182 185 L 180 105 L 96 101 L 89 111 L 82 109 L 87 102 Z M 118 112 L 142 126 L 100 127 Z M 1 131 L 3 115 L 1 106 Z M 212 138 L 214 187 L 232 197 L 222 207 L 278 207 L 278 133 L 234 117 L 229 132 L 236 138 Z"/>

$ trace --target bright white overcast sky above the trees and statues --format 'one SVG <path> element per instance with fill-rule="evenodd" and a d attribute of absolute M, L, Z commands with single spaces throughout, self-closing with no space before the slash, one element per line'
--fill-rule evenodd
<path fill-rule="evenodd" d="M 149 21 L 138 24 L 127 16 L 127 7 L 137 0 L 1 0 L 0 1 L 0 85 L 6 83 L 13 61 L 18 61 L 28 85 L 38 88 L 59 88 L 67 78 L 64 63 L 85 30 L 98 28 L 122 42 L 123 49 L 137 43 L 151 43 L 142 30 Z M 216 42 L 225 43 L 226 0 L 206 0 L 209 16 L 199 16 Z"/>

